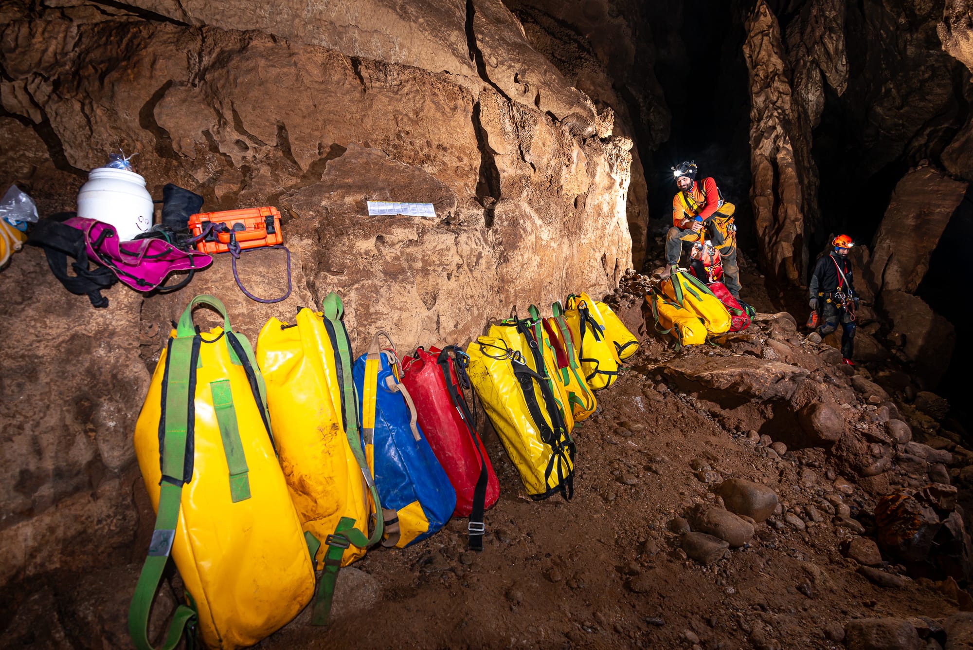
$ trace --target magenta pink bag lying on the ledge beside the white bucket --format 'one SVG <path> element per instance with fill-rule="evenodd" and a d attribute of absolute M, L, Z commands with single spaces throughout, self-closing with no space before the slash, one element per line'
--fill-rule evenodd
<path fill-rule="evenodd" d="M 152 291 L 162 287 L 162 282 L 172 271 L 190 271 L 184 280 L 162 287 L 162 290 L 182 288 L 193 279 L 194 272 L 205 269 L 213 262 L 206 253 L 182 250 L 158 237 L 119 241 L 114 226 L 94 219 L 71 217 L 64 224 L 85 234 L 92 261 L 111 269 L 136 291 Z"/>

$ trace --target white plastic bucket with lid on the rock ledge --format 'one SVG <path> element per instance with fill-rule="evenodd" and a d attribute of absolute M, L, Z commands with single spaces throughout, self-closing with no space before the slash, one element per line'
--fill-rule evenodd
<path fill-rule="evenodd" d="M 78 192 L 78 216 L 111 224 L 122 241 L 152 228 L 152 195 L 134 171 L 98 167 Z"/>

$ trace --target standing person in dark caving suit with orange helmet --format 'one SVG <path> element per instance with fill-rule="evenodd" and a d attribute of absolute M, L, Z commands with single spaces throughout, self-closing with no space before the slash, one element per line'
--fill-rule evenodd
<path fill-rule="evenodd" d="M 858 308 L 858 296 L 851 284 L 851 263 L 848 251 L 853 245 L 848 235 L 838 235 L 831 245 L 834 250 L 817 261 L 811 275 L 811 309 L 817 312 L 818 333 L 823 337 L 842 326 L 842 356 L 851 363 L 854 347 L 854 312 Z"/>

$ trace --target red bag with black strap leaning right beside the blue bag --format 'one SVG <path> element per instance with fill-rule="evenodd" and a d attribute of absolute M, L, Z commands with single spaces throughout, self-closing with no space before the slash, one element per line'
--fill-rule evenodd
<path fill-rule="evenodd" d="M 403 378 L 415 402 L 419 427 L 456 490 L 456 517 L 469 517 L 469 547 L 483 550 L 484 510 L 496 503 L 500 485 L 489 462 L 463 389 L 469 357 L 455 345 L 419 347 L 402 360 Z"/>

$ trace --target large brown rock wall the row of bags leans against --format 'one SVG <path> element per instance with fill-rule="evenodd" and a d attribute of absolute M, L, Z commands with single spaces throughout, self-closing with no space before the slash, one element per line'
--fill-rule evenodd
<path fill-rule="evenodd" d="M 0 585 L 84 570 L 79 535 L 107 559 L 151 524 L 127 488 L 131 430 L 193 295 L 220 297 L 254 341 L 334 290 L 359 350 L 378 329 L 409 350 L 466 343 L 515 306 L 600 297 L 632 266 L 631 138 L 499 0 L 55 4 L 0 7 L 0 185 L 72 210 L 90 168 L 137 152 L 155 198 L 172 182 L 204 210 L 280 208 L 294 288 L 253 303 L 217 256 L 186 289 L 117 285 L 96 310 L 40 250 L 15 256 L 0 273 L 18 333 L 0 343 Z M 436 218 L 370 217 L 370 199 L 432 202 Z M 238 264 L 265 298 L 284 270 L 282 251 Z"/>

